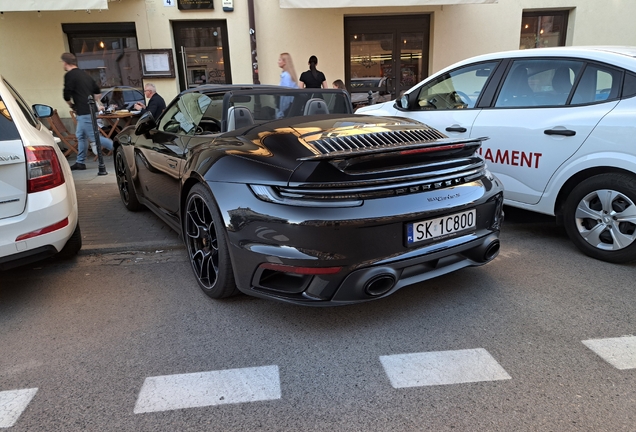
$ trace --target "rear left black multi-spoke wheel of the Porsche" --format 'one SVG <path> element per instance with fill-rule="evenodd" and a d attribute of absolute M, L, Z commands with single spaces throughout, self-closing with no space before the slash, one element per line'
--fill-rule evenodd
<path fill-rule="evenodd" d="M 203 292 L 214 299 L 238 294 L 223 218 L 212 193 L 200 183 L 188 194 L 183 237 L 194 276 Z"/>

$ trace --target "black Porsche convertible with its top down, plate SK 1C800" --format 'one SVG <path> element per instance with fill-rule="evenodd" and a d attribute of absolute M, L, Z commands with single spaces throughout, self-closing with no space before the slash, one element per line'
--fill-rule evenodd
<path fill-rule="evenodd" d="M 342 305 L 497 256 L 482 140 L 354 116 L 342 90 L 208 85 L 122 131 L 115 171 L 129 210 L 181 234 L 210 297 Z"/>

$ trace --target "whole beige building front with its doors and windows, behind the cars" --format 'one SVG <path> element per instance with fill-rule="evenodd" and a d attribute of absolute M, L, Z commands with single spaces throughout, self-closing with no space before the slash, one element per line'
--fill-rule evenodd
<path fill-rule="evenodd" d="M 62 117 L 65 51 L 102 88 L 152 82 L 166 100 L 203 83 L 278 84 L 282 52 L 298 75 L 316 55 L 329 84 L 392 98 L 473 55 L 636 45 L 633 0 L 0 0 L 0 11 L 0 73 Z"/>

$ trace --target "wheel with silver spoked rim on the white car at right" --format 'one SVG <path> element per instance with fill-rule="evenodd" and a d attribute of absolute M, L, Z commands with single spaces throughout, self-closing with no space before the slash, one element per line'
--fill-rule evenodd
<path fill-rule="evenodd" d="M 574 188 L 564 207 L 570 239 L 586 255 L 602 261 L 636 260 L 636 178 L 600 174 Z"/>

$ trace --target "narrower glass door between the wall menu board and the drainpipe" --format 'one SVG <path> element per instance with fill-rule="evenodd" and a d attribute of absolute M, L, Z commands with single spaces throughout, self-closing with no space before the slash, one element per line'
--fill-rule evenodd
<path fill-rule="evenodd" d="M 225 21 L 174 21 L 172 29 L 181 90 L 232 83 Z"/>

